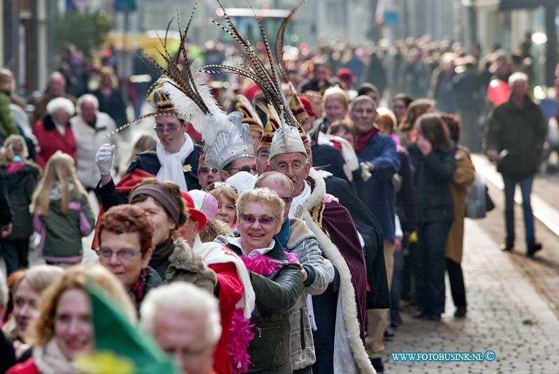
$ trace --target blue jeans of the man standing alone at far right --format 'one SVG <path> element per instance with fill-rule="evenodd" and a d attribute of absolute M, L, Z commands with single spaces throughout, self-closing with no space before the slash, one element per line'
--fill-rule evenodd
<path fill-rule="evenodd" d="M 507 243 L 514 243 L 514 190 L 520 185 L 526 242 L 534 241 L 534 215 L 530 205 L 532 182 L 534 178 L 516 179 L 502 175 L 504 182 L 504 219 L 507 222 Z"/>

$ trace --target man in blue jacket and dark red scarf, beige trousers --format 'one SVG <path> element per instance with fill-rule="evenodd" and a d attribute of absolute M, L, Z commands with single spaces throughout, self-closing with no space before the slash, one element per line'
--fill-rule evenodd
<path fill-rule="evenodd" d="M 387 279 L 392 279 L 395 240 L 395 193 L 392 177 L 400 169 L 400 158 L 392 138 L 380 134 L 375 127 L 377 104 L 370 96 L 358 96 L 351 104 L 357 139 L 355 151 L 361 163 L 372 173 L 365 183 L 363 195 L 366 205 L 375 214 L 384 238 L 384 264 Z M 391 282 L 389 282 L 390 285 Z M 388 326 L 388 310 L 373 309 L 368 312 L 368 337 L 370 357 L 377 371 L 384 371 L 384 330 Z"/>

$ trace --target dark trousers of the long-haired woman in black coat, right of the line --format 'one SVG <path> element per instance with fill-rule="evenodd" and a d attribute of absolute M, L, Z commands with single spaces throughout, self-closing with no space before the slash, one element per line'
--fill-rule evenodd
<path fill-rule="evenodd" d="M 451 222 L 428 222 L 418 227 L 416 300 L 421 312 L 444 313 L 444 247 Z"/>

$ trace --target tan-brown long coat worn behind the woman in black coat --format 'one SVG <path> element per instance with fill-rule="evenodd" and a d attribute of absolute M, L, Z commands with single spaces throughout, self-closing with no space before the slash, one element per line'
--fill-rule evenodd
<path fill-rule="evenodd" d="M 452 175 L 452 182 L 450 184 L 454 220 L 450 226 L 447 246 L 444 251 L 444 257 L 458 264 L 462 261 L 467 187 L 470 187 L 474 182 L 475 173 L 470 152 L 468 152 L 467 148 L 458 148 L 456 150 L 456 170 Z"/>

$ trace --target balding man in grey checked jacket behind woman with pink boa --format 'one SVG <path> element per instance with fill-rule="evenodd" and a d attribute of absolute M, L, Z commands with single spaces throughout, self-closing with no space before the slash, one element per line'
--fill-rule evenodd
<path fill-rule="evenodd" d="M 291 314 L 291 368 L 296 374 L 312 373 L 311 366 L 316 361 L 312 329 L 316 330 L 317 325 L 314 312 L 309 311 L 312 310 L 311 295 L 319 295 L 326 290 L 334 278 L 334 268 L 330 261 L 322 257 L 317 237 L 307 224 L 298 218 L 289 218 L 293 182 L 286 175 L 272 171 L 260 175 L 254 187 L 271 189 L 285 203 L 284 223 L 276 238 L 287 252 L 296 254 L 303 266 L 305 286 L 305 297 L 301 297 Z"/>

